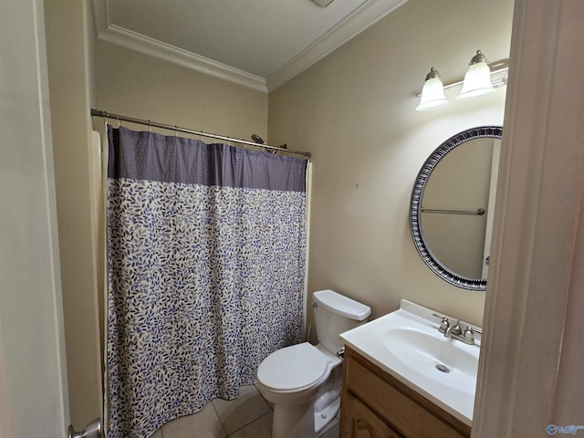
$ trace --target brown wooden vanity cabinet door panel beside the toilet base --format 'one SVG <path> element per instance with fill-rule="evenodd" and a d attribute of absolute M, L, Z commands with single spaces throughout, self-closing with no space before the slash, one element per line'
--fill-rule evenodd
<path fill-rule="evenodd" d="M 346 415 L 341 416 L 340 438 L 402 438 L 367 406 L 348 394 L 343 399 Z"/>

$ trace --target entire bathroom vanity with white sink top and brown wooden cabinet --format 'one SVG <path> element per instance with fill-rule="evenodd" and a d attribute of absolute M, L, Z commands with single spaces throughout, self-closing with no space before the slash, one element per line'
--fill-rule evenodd
<path fill-rule="evenodd" d="M 340 437 L 470 437 L 480 352 L 480 329 L 472 330 L 401 300 L 399 310 L 342 333 Z"/>

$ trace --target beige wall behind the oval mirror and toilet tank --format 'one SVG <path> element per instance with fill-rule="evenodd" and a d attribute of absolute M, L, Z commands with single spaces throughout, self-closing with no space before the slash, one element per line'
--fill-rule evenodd
<path fill-rule="evenodd" d="M 415 92 L 431 67 L 444 82 L 462 78 L 477 49 L 508 57 L 512 14 L 511 0 L 410 0 L 270 93 L 269 141 L 313 153 L 309 291 L 336 289 L 373 318 L 407 298 L 481 324 L 485 293 L 423 264 L 408 210 L 425 158 L 456 132 L 502 124 L 506 89 L 468 102 L 451 90 L 447 107 L 426 113 Z"/>

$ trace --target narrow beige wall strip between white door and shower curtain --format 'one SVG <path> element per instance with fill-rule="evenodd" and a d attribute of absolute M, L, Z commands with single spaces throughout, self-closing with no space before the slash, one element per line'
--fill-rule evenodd
<path fill-rule="evenodd" d="M 71 422 L 101 415 L 98 272 L 90 191 L 89 4 L 46 0 L 47 64 Z"/>

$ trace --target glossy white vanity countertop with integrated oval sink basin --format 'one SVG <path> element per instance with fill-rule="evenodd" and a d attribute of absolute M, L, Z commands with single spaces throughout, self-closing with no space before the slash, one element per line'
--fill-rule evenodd
<path fill-rule="evenodd" d="M 401 300 L 401 308 L 340 337 L 350 348 L 471 425 L 478 345 L 446 338 L 433 310 Z M 461 322 L 462 326 L 466 324 Z"/>

